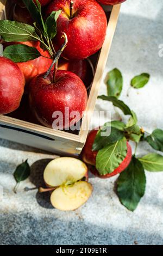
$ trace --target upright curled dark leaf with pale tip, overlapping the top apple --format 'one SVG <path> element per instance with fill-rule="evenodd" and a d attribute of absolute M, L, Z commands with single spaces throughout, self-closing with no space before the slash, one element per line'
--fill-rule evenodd
<path fill-rule="evenodd" d="M 52 11 L 51 15 L 47 18 L 45 22 L 46 31 L 49 39 L 53 39 L 57 34 L 57 19 L 61 13 L 61 10 Z"/>

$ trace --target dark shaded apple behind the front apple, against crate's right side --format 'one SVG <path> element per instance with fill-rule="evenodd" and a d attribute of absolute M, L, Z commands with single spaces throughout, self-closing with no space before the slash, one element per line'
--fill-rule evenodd
<path fill-rule="evenodd" d="M 90 86 L 93 80 L 94 69 L 91 61 L 88 59 L 66 60 L 60 58 L 58 69 L 71 71 L 79 76 L 86 88 Z"/>

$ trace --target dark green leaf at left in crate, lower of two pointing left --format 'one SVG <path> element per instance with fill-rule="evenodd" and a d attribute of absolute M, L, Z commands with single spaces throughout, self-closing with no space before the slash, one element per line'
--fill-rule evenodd
<path fill-rule="evenodd" d="M 27 45 L 10 45 L 5 48 L 3 56 L 11 59 L 13 62 L 27 62 L 41 56 L 35 47 Z"/>

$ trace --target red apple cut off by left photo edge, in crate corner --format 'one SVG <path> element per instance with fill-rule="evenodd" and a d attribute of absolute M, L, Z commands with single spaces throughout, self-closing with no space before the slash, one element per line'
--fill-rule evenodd
<path fill-rule="evenodd" d="M 0 114 L 8 114 L 20 106 L 25 79 L 18 65 L 0 57 Z"/>

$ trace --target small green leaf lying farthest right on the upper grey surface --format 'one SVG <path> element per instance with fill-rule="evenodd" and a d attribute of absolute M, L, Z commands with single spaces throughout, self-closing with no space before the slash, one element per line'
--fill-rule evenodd
<path fill-rule="evenodd" d="M 146 74 L 146 73 L 143 73 L 139 76 L 135 76 L 131 80 L 131 86 L 136 88 L 136 89 L 142 88 L 148 83 L 149 77 L 150 77 L 150 75 Z"/>

